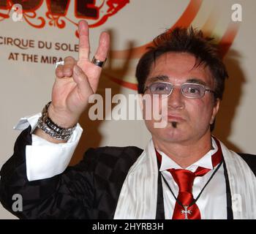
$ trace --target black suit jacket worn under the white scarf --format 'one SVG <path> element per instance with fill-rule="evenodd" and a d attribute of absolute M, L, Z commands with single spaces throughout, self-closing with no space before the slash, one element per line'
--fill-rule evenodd
<path fill-rule="evenodd" d="M 100 147 L 86 151 L 83 160 L 61 175 L 38 181 L 26 177 L 26 145 L 31 128 L 15 142 L 14 154 L 1 168 L 0 200 L 20 219 L 113 219 L 129 168 L 143 152 L 135 146 Z M 256 175 L 256 156 L 241 154 Z M 225 168 L 225 163 L 224 163 Z M 230 186 L 227 186 L 227 219 L 233 219 Z M 23 211 L 12 211 L 12 196 L 23 197 Z M 164 219 L 162 181 L 159 177 L 157 219 Z"/>

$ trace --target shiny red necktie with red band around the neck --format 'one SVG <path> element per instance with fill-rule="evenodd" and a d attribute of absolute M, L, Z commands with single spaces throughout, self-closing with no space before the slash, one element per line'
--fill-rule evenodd
<path fill-rule="evenodd" d="M 218 150 L 211 156 L 211 162 L 216 167 L 222 161 L 222 149 L 219 141 L 215 137 L 214 140 L 217 143 Z M 157 159 L 160 163 L 162 162 L 162 156 L 158 152 Z M 197 204 L 193 204 L 195 199 L 192 195 L 192 186 L 196 176 L 204 176 L 210 169 L 197 167 L 195 173 L 185 169 L 169 169 L 168 171 L 178 184 L 178 197 L 173 211 L 173 219 L 201 219 Z"/>

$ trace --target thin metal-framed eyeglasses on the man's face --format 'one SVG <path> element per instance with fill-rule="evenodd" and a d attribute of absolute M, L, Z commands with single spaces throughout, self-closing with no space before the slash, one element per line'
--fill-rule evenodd
<path fill-rule="evenodd" d="M 148 89 L 151 94 L 167 95 L 169 96 L 174 86 L 181 86 L 181 94 L 188 98 L 202 98 L 206 91 L 215 93 L 213 90 L 206 88 L 206 86 L 198 83 L 184 83 L 182 85 L 173 85 L 167 82 L 154 82 L 151 85 L 146 86 L 144 92 Z"/>

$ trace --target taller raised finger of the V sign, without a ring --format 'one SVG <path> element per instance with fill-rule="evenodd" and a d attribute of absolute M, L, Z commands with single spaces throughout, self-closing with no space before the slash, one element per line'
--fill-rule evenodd
<path fill-rule="evenodd" d="M 79 47 L 78 60 L 89 60 L 89 26 L 86 20 L 80 20 L 78 23 Z"/>

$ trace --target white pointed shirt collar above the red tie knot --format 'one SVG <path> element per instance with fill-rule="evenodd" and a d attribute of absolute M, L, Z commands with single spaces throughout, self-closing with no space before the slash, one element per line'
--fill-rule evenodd
<path fill-rule="evenodd" d="M 158 151 L 159 154 L 162 156 L 162 163 L 160 167 L 160 171 L 167 170 L 170 168 L 173 169 L 187 169 L 192 172 L 195 172 L 197 170 L 197 167 L 204 167 L 208 169 L 213 169 L 211 156 L 215 154 L 218 150 L 217 144 L 214 141 L 214 138 L 211 137 L 211 143 L 212 143 L 212 149 L 208 151 L 203 157 L 201 157 L 197 162 L 193 163 L 192 165 L 189 165 L 187 168 L 182 168 L 180 165 L 178 165 L 176 162 L 173 161 L 173 159 L 170 159 L 169 156 L 167 156 L 164 152 Z"/>

